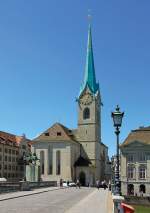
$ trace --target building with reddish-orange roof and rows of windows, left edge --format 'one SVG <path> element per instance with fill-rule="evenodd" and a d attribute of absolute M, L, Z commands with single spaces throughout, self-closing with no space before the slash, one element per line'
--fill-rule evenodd
<path fill-rule="evenodd" d="M 25 165 L 22 160 L 30 150 L 28 142 L 25 136 L 0 131 L 0 178 L 18 181 L 24 177 Z"/>

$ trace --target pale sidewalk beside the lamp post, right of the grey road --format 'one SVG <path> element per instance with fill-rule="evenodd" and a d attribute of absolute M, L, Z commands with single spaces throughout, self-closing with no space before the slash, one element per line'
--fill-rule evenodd
<path fill-rule="evenodd" d="M 110 213 L 112 212 L 111 196 L 108 190 L 95 189 L 90 195 L 81 200 L 65 213 Z"/>

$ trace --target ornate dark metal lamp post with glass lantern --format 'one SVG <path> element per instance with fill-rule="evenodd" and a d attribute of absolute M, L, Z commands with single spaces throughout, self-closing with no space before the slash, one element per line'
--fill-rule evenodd
<path fill-rule="evenodd" d="M 113 118 L 115 134 L 117 136 L 117 155 L 116 155 L 116 168 L 115 168 L 115 194 L 120 195 L 121 187 L 120 187 L 120 177 L 119 177 L 119 134 L 120 127 L 122 124 L 122 118 L 124 116 L 124 112 L 120 112 L 120 108 L 117 105 L 116 111 L 111 113 L 111 117 Z"/>

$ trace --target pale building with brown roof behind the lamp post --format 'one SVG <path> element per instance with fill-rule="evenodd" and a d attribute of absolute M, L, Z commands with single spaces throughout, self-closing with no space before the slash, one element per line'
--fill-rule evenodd
<path fill-rule="evenodd" d="M 120 146 L 123 195 L 150 195 L 150 127 L 132 130 Z"/>

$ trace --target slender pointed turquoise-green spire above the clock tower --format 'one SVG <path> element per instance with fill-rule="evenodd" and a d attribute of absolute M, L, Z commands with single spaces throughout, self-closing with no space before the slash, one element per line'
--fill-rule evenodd
<path fill-rule="evenodd" d="M 92 33 L 91 33 L 90 24 L 89 24 L 89 30 L 88 30 L 88 44 L 87 44 L 87 56 L 86 56 L 84 81 L 81 85 L 79 96 L 81 95 L 81 93 L 86 87 L 88 87 L 94 95 L 99 90 L 99 84 L 96 83 L 96 76 L 95 76 L 93 47 L 92 47 Z"/>

